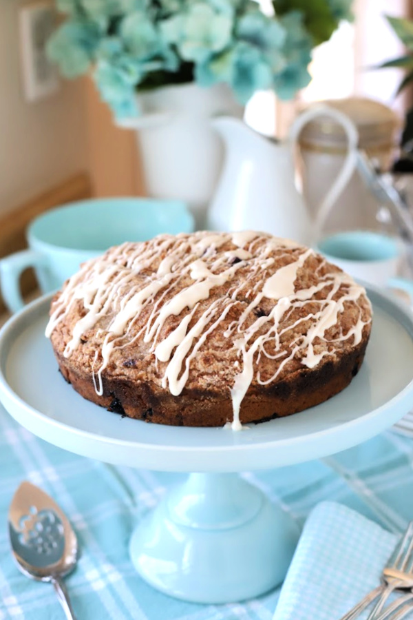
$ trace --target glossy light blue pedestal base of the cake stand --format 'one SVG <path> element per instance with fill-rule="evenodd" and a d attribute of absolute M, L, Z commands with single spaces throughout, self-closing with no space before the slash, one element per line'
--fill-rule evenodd
<path fill-rule="evenodd" d="M 145 581 L 195 603 L 233 603 L 286 575 L 299 528 L 237 474 L 192 473 L 136 528 L 131 559 Z"/>

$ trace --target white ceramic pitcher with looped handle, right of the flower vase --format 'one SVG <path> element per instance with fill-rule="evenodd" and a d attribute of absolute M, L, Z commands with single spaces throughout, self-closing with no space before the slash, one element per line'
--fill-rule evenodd
<path fill-rule="evenodd" d="M 348 153 L 312 222 L 296 187 L 295 148 L 304 125 L 321 115 L 332 116 L 343 127 Z M 211 123 L 224 141 L 226 158 L 209 209 L 209 229 L 260 230 L 313 245 L 357 163 L 359 136 L 350 118 L 332 107 L 314 107 L 296 118 L 285 143 L 230 116 Z"/>

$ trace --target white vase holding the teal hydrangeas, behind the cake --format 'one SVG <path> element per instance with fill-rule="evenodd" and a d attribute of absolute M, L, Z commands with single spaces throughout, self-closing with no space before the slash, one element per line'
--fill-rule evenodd
<path fill-rule="evenodd" d="M 201 88 L 193 83 L 138 94 L 141 115 L 118 121 L 136 130 L 149 196 L 188 203 L 197 228 L 218 183 L 224 147 L 210 124 L 220 115 L 242 118 L 225 84 Z"/>

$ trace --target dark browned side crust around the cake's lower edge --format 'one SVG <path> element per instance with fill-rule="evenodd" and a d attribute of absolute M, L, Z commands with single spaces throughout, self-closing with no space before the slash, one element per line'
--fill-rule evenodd
<path fill-rule="evenodd" d="M 313 371 L 300 369 L 265 390 L 250 389 L 242 401 L 241 422 L 264 422 L 298 413 L 341 392 L 357 375 L 367 340 L 348 355 L 321 363 Z M 90 376 L 70 368 L 64 358 L 58 357 L 58 362 L 63 377 L 79 394 L 115 413 L 172 426 L 224 426 L 233 418 L 231 399 L 222 391 L 187 389 L 173 396 L 153 384 L 140 384 L 137 389 L 131 380 L 105 379 L 103 395 L 98 396 Z"/>

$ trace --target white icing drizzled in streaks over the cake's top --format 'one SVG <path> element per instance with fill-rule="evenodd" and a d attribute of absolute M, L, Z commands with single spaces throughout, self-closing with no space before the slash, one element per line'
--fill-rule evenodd
<path fill-rule="evenodd" d="M 219 251 L 229 243 L 235 248 Z M 237 374 L 229 390 L 233 402 L 231 425 L 234 430 L 240 430 L 242 400 L 253 381 L 255 364 L 258 366 L 263 355 L 279 362 L 271 377 L 262 379 L 260 371 L 257 372 L 257 382 L 266 385 L 275 381 L 286 364 L 295 358 L 310 369 L 317 366 L 325 355 L 330 355 L 330 342 L 352 338 L 352 344 L 359 344 L 363 327 L 370 322 L 370 319 L 363 321 L 362 307 L 358 303 L 364 289 L 341 271 L 318 276 L 317 284 L 308 289 L 295 289 L 299 270 L 312 256 L 313 250 L 295 242 L 254 231 L 232 234 L 202 231 L 192 236 L 180 234 L 176 237 L 160 235 L 151 243 L 138 247 L 125 243 L 112 248 L 102 258 L 85 263 L 81 271 L 72 276 L 54 304 L 46 335 L 50 337 L 73 304 L 80 300 L 85 314 L 74 324 L 65 347 L 63 355 L 69 357 L 89 329 L 106 316 L 113 315 L 105 329 L 101 325 L 99 328 L 99 331 L 103 329 L 105 336 L 100 347 L 101 359 L 99 361 L 96 351 L 94 360 L 94 368 L 100 364 L 97 371 L 94 370 L 96 392 L 103 393 L 102 375 L 114 349 L 127 347 L 142 338 L 143 342 L 150 344 L 156 368 L 158 362 L 167 364 L 162 386 L 178 396 L 187 384 L 191 361 L 202 344 L 215 329 L 219 329 L 231 309 L 241 304 L 237 309 L 237 320 L 222 332 L 225 338 L 233 337 L 233 349 L 237 351 L 237 360 L 233 362 Z M 275 262 L 280 259 L 288 262 L 275 269 Z M 229 287 L 237 270 L 245 267 L 244 261 L 248 261 L 246 277 Z M 156 269 L 154 263 L 158 265 Z M 318 269 L 323 265 L 325 261 Z M 145 275 L 147 271 L 149 273 Z M 138 280 L 137 274 L 140 274 Z M 186 282 L 190 278 L 184 287 L 182 278 L 187 278 Z M 253 287 L 249 284 L 251 278 L 258 278 Z M 211 291 L 216 287 L 225 287 L 224 293 L 211 300 L 199 313 L 200 304 L 211 298 Z M 174 292 L 175 289 L 178 290 Z M 322 298 L 319 299 L 317 295 L 320 294 Z M 241 302 L 242 298 L 248 302 Z M 264 316 L 260 313 L 254 315 L 255 309 L 266 299 L 275 301 L 268 316 L 265 313 Z M 309 300 L 312 311 L 306 309 Z M 347 333 L 341 331 L 337 338 L 328 340 L 326 333 L 338 324 L 346 303 L 358 308 L 357 321 Z M 282 327 L 282 321 L 285 322 L 290 313 L 303 308 L 304 316 Z M 187 313 L 177 326 L 165 338 L 160 338 L 165 323 L 173 316 L 180 316 L 185 309 Z M 134 322 L 148 310 L 145 327 L 138 334 L 129 335 Z M 307 323 L 304 332 L 290 342 L 290 349 L 283 349 L 283 335 Z"/>

